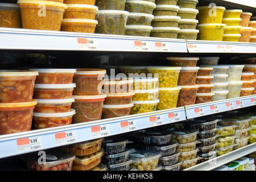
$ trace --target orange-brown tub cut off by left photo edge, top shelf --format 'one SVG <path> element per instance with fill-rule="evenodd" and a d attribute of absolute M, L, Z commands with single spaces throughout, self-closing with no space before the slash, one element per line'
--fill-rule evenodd
<path fill-rule="evenodd" d="M 22 28 L 19 5 L 0 3 L 0 27 Z"/>

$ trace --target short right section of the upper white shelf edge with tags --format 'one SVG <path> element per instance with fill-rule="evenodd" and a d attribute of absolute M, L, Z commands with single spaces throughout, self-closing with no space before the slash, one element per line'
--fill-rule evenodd
<path fill-rule="evenodd" d="M 189 53 L 256 53 L 256 43 L 187 40 Z"/>

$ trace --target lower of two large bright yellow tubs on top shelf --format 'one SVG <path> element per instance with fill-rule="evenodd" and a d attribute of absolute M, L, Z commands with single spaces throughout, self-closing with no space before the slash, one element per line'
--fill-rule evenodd
<path fill-rule="evenodd" d="M 200 40 L 222 41 L 226 24 L 207 23 L 197 24 Z"/>

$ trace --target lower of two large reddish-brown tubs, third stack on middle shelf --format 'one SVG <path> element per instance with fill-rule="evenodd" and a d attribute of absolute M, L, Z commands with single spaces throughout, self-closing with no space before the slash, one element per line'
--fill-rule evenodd
<path fill-rule="evenodd" d="M 106 94 L 98 96 L 73 96 L 75 103 L 72 108 L 76 110 L 73 123 L 96 121 L 101 119 L 103 103 Z"/>

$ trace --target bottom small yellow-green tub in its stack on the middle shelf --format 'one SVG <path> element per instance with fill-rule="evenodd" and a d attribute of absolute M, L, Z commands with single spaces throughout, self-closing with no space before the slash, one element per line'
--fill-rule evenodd
<path fill-rule="evenodd" d="M 147 113 L 156 111 L 156 105 L 159 100 L 152 101 L 133 101 L 133 108 L 131 109 L 131 114 Z"/>

